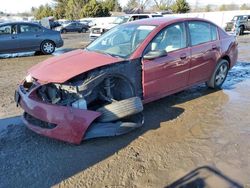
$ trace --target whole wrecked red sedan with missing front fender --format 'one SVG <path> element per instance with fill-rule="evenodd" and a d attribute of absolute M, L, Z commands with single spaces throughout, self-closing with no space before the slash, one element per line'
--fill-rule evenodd
<path fill-rule="evenodd" d="M 38 134 L 79 144 L 143 124 L 143 103 L 206 82 L 218 89 L 238 56 L 234 36 L 198 18 L 145 19 L 28 70 L 15 93 Z"/>

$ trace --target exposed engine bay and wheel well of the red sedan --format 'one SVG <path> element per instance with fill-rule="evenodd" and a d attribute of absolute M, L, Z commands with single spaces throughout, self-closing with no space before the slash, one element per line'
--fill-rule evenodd
<path fill-rule="evenodd" d="M 131 71 L 131 67 L 135 68 L 131 64 L 136 65 L 136 63 L 121 65 L 128 67 L 131 75 L 136 75 L 135 71 L 138 69 Z M 134 82 L 140 85 L 141 79 L 136 80 L 135 76 L 128 79 L 124 76 L 126 74 L 124 71 L 128 68 L 123 68 L 124 71 L 119 68 L 119 72 L 122 72 L 120 74 L 116 71 L 116 66 L 113 67 L 78 75 L 63 84 L 43 85 L 37 90 L 37 95 L 46 103 L 90 110 L 136 96 L 138 91 L 136 93 L 134 89 Z M 142 92 L 140 91 L 140 93 Z"/>

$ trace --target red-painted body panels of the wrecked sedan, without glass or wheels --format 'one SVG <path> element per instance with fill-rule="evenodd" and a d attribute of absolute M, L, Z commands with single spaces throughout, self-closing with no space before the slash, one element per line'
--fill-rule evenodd
<path fill-rule="evenodd" d="M 128 60 L 141 58 L 149 42 L 166 26 L 193 20 L 211 23 L 199 18 L 173 17 L 127 23 L 157 26 Z M 216 41 L 193 47 L 189 45 L 187 48 L 169 52 L 167 56 L 161 58 L 142 60 L 144 103 L 176 93 L 196 83 L 208 81 L 217 62 L 223 57 L 229 57 L 231 68 L 237 61 L 238 44 L 233 36 L 226 34 L 219 27 L 218 37 Z M 186 58 L 181 58 L 183 55 Z M 86 50 L 75 50 L 50 58 L 32 67 L 28 72 L 39 83 L 63 83 L 81 73 L 120 61 L 123 59 Z M 39 134 L 71 143 L 80 143 L 87 128 L 100 114 L 72 107 L 45 104 L 36 97 L 35 89 L 28 94 L 22 93 L 19 89 L 21 107 L 38 119 L 57 124 L 57 127 L 42 129 L 24 120 L 25 124 Z"/>

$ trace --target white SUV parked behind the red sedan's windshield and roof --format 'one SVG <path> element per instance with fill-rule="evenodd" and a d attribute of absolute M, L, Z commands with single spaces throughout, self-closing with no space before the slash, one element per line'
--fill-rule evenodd
<path fill-rule="evenodd" d="M 97 37 L 101 36 L 104 32 L 110 30 L 111 28 L 135 20 L 145 19 L 145 18 L 158 18 L 163 17 L 161 14 L 128 14 L 124 16 L 118 16 L 114 22 L 106 25 L 97 25 L 90 29 L 89 38 L 90 40 L 95 40 Z"/>

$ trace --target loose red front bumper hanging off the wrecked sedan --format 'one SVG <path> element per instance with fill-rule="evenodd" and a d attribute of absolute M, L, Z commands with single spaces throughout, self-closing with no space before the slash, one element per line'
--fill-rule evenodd
<path fill-rule="evenodd" d="M 43 122 L 56 125 L 53 128 L 43 128 L 28 121 L 23 116 L 23 122 L 32 131 L 73 144 L 80 144 L 90 124 L 101 114 L 95 111 L 81 110 L 73 107 L 47 104 L 37 97 L 36 86 L 25 92 L 22 85 L 16 91 L 15 100 L 25 113 Z"/>

